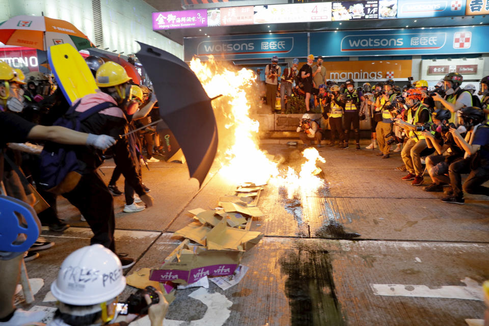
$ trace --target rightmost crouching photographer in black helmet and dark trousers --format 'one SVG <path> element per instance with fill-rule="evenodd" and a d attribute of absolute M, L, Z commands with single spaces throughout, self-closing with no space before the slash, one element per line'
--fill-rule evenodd
<path fill-rule="evenodd" d="M 484 113 L 475 106 L 462 108 L 460 118 L 464 129 L 467 130 L 465 138 L 460 135 L 458 129 L 452 127 L 450 132 L 457 145 L 465 150 L 465 154 L 463 159 L 453 162 L 448 167 L 452 191 L 442 202 L 463 205 L 463 191 L 489 196 L 489 187 L 482 186 L 489 180 L 489 126 L 482 124 L 485 120 Z M 466 173 L 469 176 L 462 186 L 461 174 Z"/>

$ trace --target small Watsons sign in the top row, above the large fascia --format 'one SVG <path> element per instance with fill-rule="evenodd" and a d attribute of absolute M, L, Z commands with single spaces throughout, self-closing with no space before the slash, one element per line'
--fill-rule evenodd
<path fill-rule="evenodd" d="M 398 0 L 397 18 L 464 16 L 467 0 Z"/>

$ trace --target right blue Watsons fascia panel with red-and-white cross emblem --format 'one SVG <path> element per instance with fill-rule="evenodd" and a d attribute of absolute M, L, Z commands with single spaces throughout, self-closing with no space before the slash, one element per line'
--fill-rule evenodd
<path fill-rule="evenodd" d="M 311 53 L 329 56 L 430 55 L 489 52 L 489 26 L 314 32 Z"/>

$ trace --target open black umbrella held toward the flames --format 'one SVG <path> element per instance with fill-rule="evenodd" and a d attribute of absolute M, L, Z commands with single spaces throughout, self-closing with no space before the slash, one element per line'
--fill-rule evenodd
<path fill-rule="evenodd" d="M 159 115 L 170 126 L 191 178 L 205 179 L 218 149 L 214 111 L 195 73 L 180 59 L 141 42 L 137 53 L 158 97 Z"/>

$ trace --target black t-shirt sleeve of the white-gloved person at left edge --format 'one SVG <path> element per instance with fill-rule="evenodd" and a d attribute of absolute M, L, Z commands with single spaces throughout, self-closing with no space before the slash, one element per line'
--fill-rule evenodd
<path fill-rule="evenodd" d="M 0 112 L 0 147 L 5 147 L 7 143 L 25 142 L 35 125 L 15 113 Z"/>

